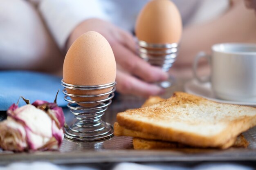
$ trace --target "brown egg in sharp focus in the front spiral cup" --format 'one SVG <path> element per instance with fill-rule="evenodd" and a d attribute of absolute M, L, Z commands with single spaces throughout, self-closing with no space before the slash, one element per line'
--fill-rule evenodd
<path fill-rule="evenodd" d="M 94 86 L 115 82 L 116 62 L 110 44 L 100 33 L 84 33 L 70 46 L 63 65 L 63 81 L 68 84 Z M 98 95 L 107 93 L 112 88 L 102 90 L 71 90 L 74 95 Z M 106 99 L 101 97 L 71 97 L 75 101 L 88 102 Z M 97 106 L 97 104 L 80 104 Z"/>

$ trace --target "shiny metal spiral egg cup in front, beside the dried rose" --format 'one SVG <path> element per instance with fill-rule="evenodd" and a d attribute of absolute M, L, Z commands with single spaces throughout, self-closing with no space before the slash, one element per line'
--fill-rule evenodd
<path fill-rule="evenodd" d="M 74 124 L 68 128 L 65 128 L 65 137 L 79 141 L 96 141 L 111 137 L 113 135 L 112 126 L 104 122 L 101 117 L 104 115 L 105 111 L 108 109 L 108 106 L 112 102 L 111 99 L 114 97 L 116 84 L 116 82 L 112 82 L 98 86 L 81 86 L 67 84 L 63 80 L 61 81 L 61 85 L 65 88 L 62 91 L 65 94 L 64 99 L 69 102 L 67 107 L 70 108 L 70 112 L 74 114 L 74 117 L 76 118 L 76 122 Z M 111 91 L 99 95 L 74 95 L 67 93 L 66 91 L 66 89 L 95 91 L 111 87 Z M 106 99 L 97 100 L 97 97 L 103 96 L 108 97 Z M 75 101 L 71 99 L 71 97 L 96 97 L 96 99 L 90 102 L 81 102 Z M 84 107 L 80 106 L 79 104 L 97 104 L 97 106 Z"/>

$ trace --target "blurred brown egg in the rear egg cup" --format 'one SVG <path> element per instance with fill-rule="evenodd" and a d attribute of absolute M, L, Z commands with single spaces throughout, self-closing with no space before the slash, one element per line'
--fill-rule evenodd
<path fill-rule="evenodd" d="M 139 13 L 135 33 L 147 43 L 178 43 L 182 34 L 180 12 L 170 0 L 152 0 Z"/>

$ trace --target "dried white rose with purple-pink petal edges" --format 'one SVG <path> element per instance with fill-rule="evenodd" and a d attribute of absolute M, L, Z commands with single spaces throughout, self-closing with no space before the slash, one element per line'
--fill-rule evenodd
<path fill-rule="evenodd" d="M 56 100 L 54 103 L 36 100 L 20 108 L 13 104 L 7 110 L 7 120 L 0 122 L 0 148 L 56 150 L 64 137 L 64 124 L 64 113 Z"/>

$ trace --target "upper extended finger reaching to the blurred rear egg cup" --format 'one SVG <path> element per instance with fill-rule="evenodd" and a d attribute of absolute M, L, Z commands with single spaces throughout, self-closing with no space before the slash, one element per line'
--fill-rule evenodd
<path fill-rule="evenodd" d="M 122 44 L 116 43 L 112 49 L 118 64 L 146 82 L 164 81 L 168 78 L 168 73 L 163 72 L 158 67 L 151 66 Z"/>

